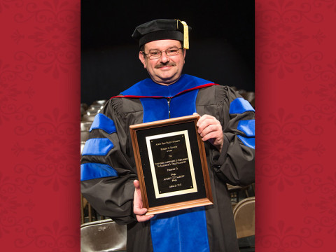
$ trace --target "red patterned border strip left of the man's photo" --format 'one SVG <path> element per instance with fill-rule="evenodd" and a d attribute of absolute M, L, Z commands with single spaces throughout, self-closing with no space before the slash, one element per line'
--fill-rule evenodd
<path fill-rule="evenodd" d="M 80 251 L 80 1 L 3 0 L 0 23 L 1 251 Z"/>

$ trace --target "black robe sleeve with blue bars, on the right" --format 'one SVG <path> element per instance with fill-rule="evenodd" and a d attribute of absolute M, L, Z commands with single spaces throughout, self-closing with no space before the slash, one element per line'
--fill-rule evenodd
<path fill-rule="evenodd" d="M 211 151 L 211 167 L 217 176 L 232 185 L 254 182 L 254 109 L 230 87 L 217 87 L 216 102 L 223 127 L 221 153 Z"/>

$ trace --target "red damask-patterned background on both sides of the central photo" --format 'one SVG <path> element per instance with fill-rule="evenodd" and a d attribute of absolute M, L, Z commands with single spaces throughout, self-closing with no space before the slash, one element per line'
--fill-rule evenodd
<path fill-rule="evenodd" d="M 256 250 L 336 237 L 335 0 L 255 1 Z M 0 1 L 2 251 L 80 250 L 80 1 Z"/>

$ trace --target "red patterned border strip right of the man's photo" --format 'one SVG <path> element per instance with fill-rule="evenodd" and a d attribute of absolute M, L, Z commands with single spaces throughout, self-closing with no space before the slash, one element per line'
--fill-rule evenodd
<path fill-rule="evenodd" d="M 335 7 L 255 1 L 256 251 L 335 249 Z"/>

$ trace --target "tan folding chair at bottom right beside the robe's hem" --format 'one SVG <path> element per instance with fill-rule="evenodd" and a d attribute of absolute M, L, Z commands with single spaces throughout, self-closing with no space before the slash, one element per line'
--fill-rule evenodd
<path fill-rule="evenodd" d="M 233 209 L 233 216 L 240 251 L 254 251 L 255 197 L 248 197 L 238 202 Z"/>

